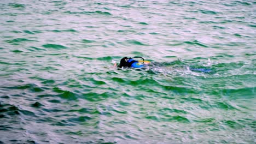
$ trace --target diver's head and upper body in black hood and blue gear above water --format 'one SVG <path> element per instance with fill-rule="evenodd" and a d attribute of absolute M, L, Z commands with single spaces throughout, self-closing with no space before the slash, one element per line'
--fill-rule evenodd
<path fill-rule="evenodd" d="M 136 61 L 133 58 L 142 58 L 143 60 Z M 143 57 L 124 57 L 120 60 L 120 64 L 118 65 L 118 68 L 142 68 L 145 65 L 148 65 L 149 61 L 144 61 Z M 114 66 L 117 66 L 117 63 L 114 64 Z"/>

